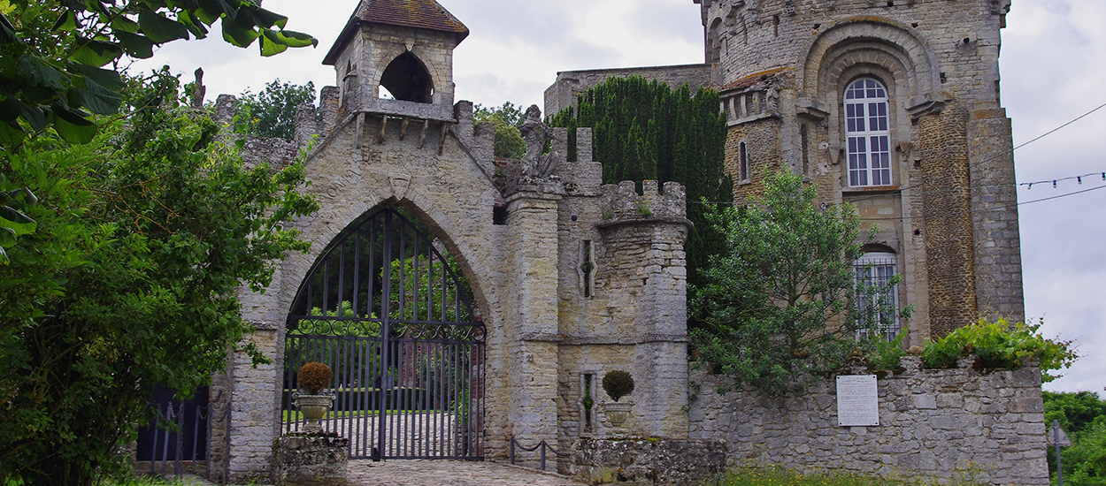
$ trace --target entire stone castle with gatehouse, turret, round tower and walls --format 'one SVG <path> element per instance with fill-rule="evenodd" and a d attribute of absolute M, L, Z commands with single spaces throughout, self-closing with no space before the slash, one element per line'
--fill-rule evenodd
<path fill-rule="evenodd" d="M 786 167 L 817 182 L 825 203 L 853 202 L 866 224 L 878 223 L 878 244 L 866 249 L 865 267 L 904 275 L 891 296 L 916 308 L 906 326 L 910 344 L 980 316 L 1021 317 L 1010 122 L 998 96 L 999 29 L 1009 2 L 696 3 L 706 28 L 705 64 L 559 73 L 545 94 L 546 114 L 613 75 L 714 87 L 729 119 L 727 165 L 735 193 L 751 196 L 765 173 Z M 352 450 L 354 457 L 502 461 L 512 441 L 547 441 L 566 451 L 582 439 L 602 442 L 619 434 L 691 444 L 689 451 L 709 452 L 705 455 L 729 443 L 723 455 L 730 465 L 839 463 L 878 474 L 951 478 L 970 463 L 982 465 L 988 482 L 1047 482 L 1040 377 L 1033 369 L 988 379 L 970 369 L 931 377 L 911 370 L 881 381 L 885 425 L 870 427 L 836 427 L 830 388 L 787 402 L 703 390 L 719 378 L 692 373 L 688 364 L 684 241 L 690 222 L 684 188 L 655 181 L 640 191 L 633 182 L 602 184 L 591 130 L 577 131 L 578 161 L 567 161 L 566 130 L 542 124 L 536 108 L 523 127 L 526 156 L 493 157 L 492 127 L 474 124 L 472 104 L 453 99 L 452 50 L 468 33 L 434 0 L 362 0 L 325 57 L 335 67 L 336 85 L 323 88 L 317 108 L 301 108 L 295 140 L 249 140 L 248 160 L 288 161 L 307 148 L 307 190 L 321 209 L 296 222 L 313 243 L 311 252 L 280 263 L 264 293 L 241 296 L 243 317 L 255 327 L 249 339 L 272 363 L 251 366 L 236 353 L 211 387 L 208 458 L 217 478 L 270 477 L 273 441 L 295 429 L 285 364 L 293 363 L 291 339 L 301 338 L 296 326 L 314 315 L 312 305 L 321 307 L 320 315 L 345 318 L 327 308 L 352 299 L 348 320 L 383 329 L 394 320 L 395 329 L 408 329 L 327 337 L 366 342 L 369 351 L 359 355 L 338 351 L 347 358 L 400 355 L 376 368 L 331 362 L 383 370 L 375 388 L 366 384 L 374 383 L 367 374 L 336 378 L 344 380 L 336 381 L 337 393 L 382 397 L 389 387 L 406 387 L 429 400 L 428 374 L 405 377 L 404 370 L 421 359 L 415 351 L 448 339 L 419 341 L 410 329 L 442 323 L 389 317 L 386 303 L 403 306 L 405 297 L 387 294 L 384 283 L 397 278 L 387 276 L 388 265 L 368 263 L 358 274 L 353 266 L 359 263 L 348 263 L 358 260 L 338 250 L 347 247 L 343 242 L 361 241 L 349 239 L 362 234 L 365 221 L 394 208 L 400 211 L 395 218 L 425 228 L 424 247 L 456 261 L 476 309 L 468 324 L 479 329 L 477 338 L 467 335 L 466 346 L 476 345 L 466 349 L 477 351 L 461 358 L 450 351 L 455 364 L 469 367 L 463 374 L 469 388 L 455 391 L 448 404 L 403 406 L 396 399 L 398 411 L 388 412 L 383 399 L 372 399 L 377 404 L 348 422 L 348 430 L 356 435 L 357 427 L 378 427 L 373 434 L 380 440 L 355 440 L 367 442 L 363 453 Z M 382 87 L 392 96 L 382 97 Z M 219 113 L 229 116 L 231 104 L 220 97 Z M 546 144 L 551 151 L 542 149 Z M 356 247 L 369 262 L 377 258 Z M 348 279 L 366 282 L 366 311 L 357 310 L 357 283 L 344 297 Z M 385 293 L 375 300 L 374 285 Z M 417 293 L 419 284 L 414 285 Z M 303 302 L 309 310 L 294 310 Z M 898 325 L 880 323 L 874 331 Z M 380 345 L 392 339 L 403 342 Z M 612 370 L 630 371 L 636 381 L 624 399 L 633 412 L 623 424 L 601 413 L 612 398 L 599 383 Z M 927 424 L 931 418 L 941 425 Z M 429 422 L 419 422 L 424 419 Z M 435 429 L 439 419 L 450 424 L 446 429 L 462 431 Z M 408 420 L 418 433 L 385 440 L 394 437 L 385 429 L 408 426 L 403 425 Z M 338 430 L 337 420 L 327 427 Z M 427 437 L 450 434 L 463 436 L 462 445 L 448 446 L 448 453 L 418 448 L 437 440 Z M 406 452 L 393 452 L 396 441 Z M 804 451 L 813 452 L 794 456 Z M 605 477 L 602 465 L 561 466 Z M 641 474 L 640 480 L 658 477 L 655 471 Z"/>

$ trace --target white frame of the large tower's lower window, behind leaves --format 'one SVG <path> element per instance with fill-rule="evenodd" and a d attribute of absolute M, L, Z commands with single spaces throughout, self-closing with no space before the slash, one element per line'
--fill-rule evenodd
<path fill-rule="evenodd" d="M 895 339 L 901 330 L 898 318 L 898 285 L 887 285 L 897 274 L 898 258 L 894 253 L 869 252 L 865 253 L 853 262 L 853 274 L 857 284 L 860 282 L 875 283 L 881 286 L 875 295 L 867 297 L 857 293 L 856 307 L 859 314 L 859 321 L 856 328 L 856 338 L 864 339 L 874 334 L 878 334 L 888 341 Z M 867 309 L 868 299 L 889 300 L 893 311 L 874 316 L 874 309 Z M 885 302 L 886 302 L 885 300 Z"/>

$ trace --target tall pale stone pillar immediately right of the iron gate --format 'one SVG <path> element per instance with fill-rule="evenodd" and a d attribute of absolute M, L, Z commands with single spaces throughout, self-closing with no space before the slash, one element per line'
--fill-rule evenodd
<path fill-rule="evenodd" d="M 557 437 L 557 202 L 556 181 L 526 181 L 507 198 L 507 290 L 511 357 L 511 433 L 525 444 Z"/>

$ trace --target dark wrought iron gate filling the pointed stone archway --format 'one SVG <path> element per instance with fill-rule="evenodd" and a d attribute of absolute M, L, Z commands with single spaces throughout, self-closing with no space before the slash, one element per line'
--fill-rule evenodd
<path fill-rule="evenodd" d="M 351 458 L 482 458 L 484 327 L 468 283 L 429 232 L 396 208 L 342 232 L 307 273 L 288 317 L 282 420 L 296 370 L 334 371 L 323 427 Z"/>

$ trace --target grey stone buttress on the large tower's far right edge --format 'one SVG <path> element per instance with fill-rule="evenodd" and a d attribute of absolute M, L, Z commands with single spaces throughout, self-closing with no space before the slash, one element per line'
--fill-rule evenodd
<path fill-rule="evenodd" d="M 982 317 L 1025 319 L 1013 138 L 1005 109 L 977 104 L 968 123 L 975 306 Z"/>

